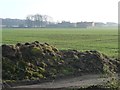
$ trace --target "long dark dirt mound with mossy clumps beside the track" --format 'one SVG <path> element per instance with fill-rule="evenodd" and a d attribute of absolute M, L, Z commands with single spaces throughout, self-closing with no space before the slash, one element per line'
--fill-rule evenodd
<path fill-rule="evenodd" d="M 58 50 L 48 43 L 2 45 L 3 80 L 42 80 L 120 71 L 120 62 L 97 51 Z"/>

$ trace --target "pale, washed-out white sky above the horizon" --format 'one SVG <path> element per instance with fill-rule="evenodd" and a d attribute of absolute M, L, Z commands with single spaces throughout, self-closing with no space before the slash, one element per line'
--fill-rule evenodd
<path fill-rule="evenodd" d="M 0 18 L 43 14 L 54 21 L 118 22 L 119 0 L 0 0 Z"/>

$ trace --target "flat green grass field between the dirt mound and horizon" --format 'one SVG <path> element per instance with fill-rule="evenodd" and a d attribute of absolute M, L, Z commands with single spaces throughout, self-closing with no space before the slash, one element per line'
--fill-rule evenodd
<path fill-rule="evenodd" d="M 2 30 L 3 44 L 31 41 L 47 42 L 59 49 L 98 50 L 108 56 L 117 57 L 117 28 L 5 28 Z"/>

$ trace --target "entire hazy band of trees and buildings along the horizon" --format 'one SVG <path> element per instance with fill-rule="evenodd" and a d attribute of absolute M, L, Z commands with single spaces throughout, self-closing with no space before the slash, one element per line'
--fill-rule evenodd
<path fill-rule="evenodd" d="M 41 14 L 35 14 L 35 15 L 28 15 L 26 19 L 2 19 L 2 27 L 17 27 L 17 28 L 41 28 L 41 27 L 47 27 L 47 28 L 87 28 L 87 27 L 106 27 L 106 26 L 117 26 L 117 23 L 108 22 L 108 23 L 102 23 L 102 22 L 76 22 L 71 23 L 67 21 L 62 21 L 61 23 L 55 23 L 53 22 L 52 17 L 48 15 L 41 15 Z"/>

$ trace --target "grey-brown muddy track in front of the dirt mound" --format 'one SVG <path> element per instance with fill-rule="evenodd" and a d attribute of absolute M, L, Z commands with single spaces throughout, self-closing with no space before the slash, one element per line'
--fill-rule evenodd
<path fill-rule="evenodd" d="M 118 78 L 118 77 L 117 77 Z M 84 75 L 79 77 L 71 77 L 59 80 L 53 80 L 52 82 L 45 82 L 41 84 L 16 86 L 12 88 L 79 88 L 87 87 L 91 85 L 101 85 L 110 80 L 111 77 L 101 77 L 101 75 Z"/>

